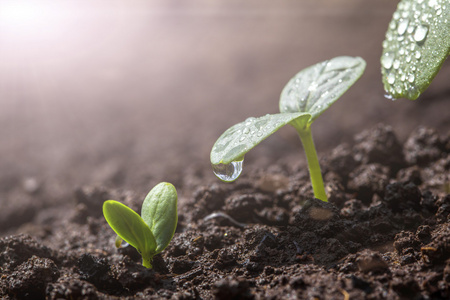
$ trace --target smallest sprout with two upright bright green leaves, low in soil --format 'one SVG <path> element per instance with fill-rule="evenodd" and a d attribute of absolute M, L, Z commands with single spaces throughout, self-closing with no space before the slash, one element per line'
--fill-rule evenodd
<path fill-rule="evenodd" d="M 167 182 L 156 185 L 142 203 L 141 216 L 115 200 L 103 203 L 103 215 L 120 237 L 137 249 L 142 265 L 152 267 L 153 256 L 163 251 L 172 240 L 177 227 L 177 191 Z"/>

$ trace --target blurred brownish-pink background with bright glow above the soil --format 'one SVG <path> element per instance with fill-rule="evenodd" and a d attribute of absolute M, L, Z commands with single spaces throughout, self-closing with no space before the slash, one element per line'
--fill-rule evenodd
<path fill-rule="evenodd" d="M 401 140 L 419 125 L 448 132 L 448 62 L 419 100 L 384 98 L 381 43 L 397 3 L 0 0 L 0 204 L 42 186 L 55 199 L 86 184 L 143 192 L 189 168 L 215 180 L 220 134 L 278 112 L 294 74 L 340 55 L 367 68 L 314 123 L 319 155 L 379 122 Z M 292 128 L 263 145 L 247 164 L 303 159 Z"/>

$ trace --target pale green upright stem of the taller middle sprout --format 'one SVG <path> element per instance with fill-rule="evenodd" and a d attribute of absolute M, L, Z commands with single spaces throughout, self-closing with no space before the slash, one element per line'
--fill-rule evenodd
<path fill-rule="evenodd" d="M 305 149 L 306 159 L 308 160 L 309 176 L 314 191 L 314 197 L 324 202 L 328 202 L 325 187 L 323 185 L 322 173 L 320 171 L 319 159 L 317 158 L 316 148 L 311 134 L 311 127 L 297 129 L 300 140 Z"/>

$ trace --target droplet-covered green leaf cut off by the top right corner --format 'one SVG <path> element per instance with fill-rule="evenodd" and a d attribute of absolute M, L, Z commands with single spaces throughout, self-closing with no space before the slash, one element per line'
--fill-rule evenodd
<path fill-rule="evenodd" d="M 403 0 L 383 42 L 381 73 L 392 97 L 415 100 L 450 54 L 448 0 Z"/>

